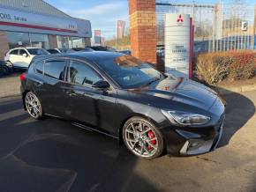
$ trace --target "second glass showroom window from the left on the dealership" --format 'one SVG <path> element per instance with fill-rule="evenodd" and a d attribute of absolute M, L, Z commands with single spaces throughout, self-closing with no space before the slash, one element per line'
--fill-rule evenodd
<path fill-rule="evenodd" d="M 49 48 L 49 38 L 47 34 L 29 33 L 31 46 L 34 48 Z"/>

